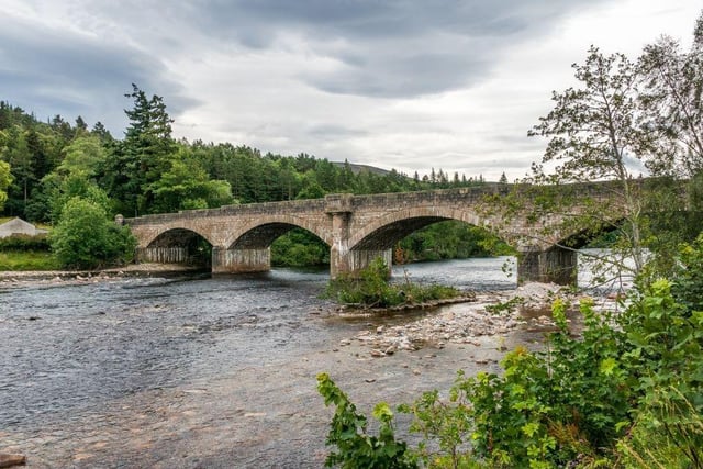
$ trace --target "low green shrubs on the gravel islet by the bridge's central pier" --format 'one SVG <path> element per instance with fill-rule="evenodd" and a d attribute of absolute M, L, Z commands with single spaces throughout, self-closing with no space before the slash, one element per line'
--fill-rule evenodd
<path fill-rule="evenodd" d="M 401 283 L 391 283 L 389 267 L 383 259 L 376 258 L 358 277 L 342 276 L 331 280 L 324 298 L 342 304 L 361 308 L 390 308 L 401 304 L 419 304 L 427 301 L 447 300 L 461 294 L 453 287 L 413 283 L 408 277 Z"/>

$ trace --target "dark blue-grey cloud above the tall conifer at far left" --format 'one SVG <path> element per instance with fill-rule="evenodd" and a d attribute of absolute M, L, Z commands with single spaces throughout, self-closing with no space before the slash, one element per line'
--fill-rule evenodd
<path fill-rule="evenodd" d="M 126 119 L 114 111 L 131 105 L 124 94 L 132 82 L 146 92 L 168 94 L 169 111 L 194 103 L 164 74 L 157 57 L 127 45 L 0 20 L 0 82 L 12 90 L 2 98 L 38 119 L 81 115 L 89 124 L 102 121 L 121 136 Z"/>

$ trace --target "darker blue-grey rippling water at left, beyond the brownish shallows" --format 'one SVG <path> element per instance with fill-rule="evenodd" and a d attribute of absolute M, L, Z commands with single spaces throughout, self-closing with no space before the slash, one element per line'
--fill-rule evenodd
<path fill-rule="evenodd" d="M 300 314 L 324 280 L 283 271 L 5 291 L 0 428 L 217 373 L 232 358 L 244 366 L 311 333 Z"/>

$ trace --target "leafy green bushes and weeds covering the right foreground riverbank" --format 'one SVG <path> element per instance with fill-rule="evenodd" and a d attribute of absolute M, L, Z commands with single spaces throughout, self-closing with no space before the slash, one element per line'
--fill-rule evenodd
<path fill-rule="evenodd" d="M 673 284 L 703 289 L 702 258 L 703 237 L 682 250 Z M 448 399 L 435 390 L 397 409 L 411 414 L 409 431 L 422 437 L 403 460 L 427 468 L 703 469 L 703 312 L 689 300 L 660 279 L 638 287 L 617 316 L 583 301 L 577 338 L 557 299 L 558 331 L 543 351 L 518 347 L 501 362 L 503 373 L 459 372 Z M 334 382 L 324 376 L 322 389 L 320 380 L 325 395 Z M 366 425 L 332 432 L 339 428 L 332 427 L 330 445 L 373 438 Z M 405 445 L 386 437 L 389 448 Z M 336 454 L 336 464 L 358 467 L 355 454 Z M 372 462 L 365 467 L 394 467 Z"/>

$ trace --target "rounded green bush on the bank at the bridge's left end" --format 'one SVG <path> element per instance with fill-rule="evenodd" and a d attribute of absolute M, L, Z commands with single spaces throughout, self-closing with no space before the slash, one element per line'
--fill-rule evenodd
<path fill-rule="evenodd" d="M 51 234 L 52 250 L 64 267 L 96 268 L 129 261 L 136 239 L 107 217 L 97 203 L 79 197 L 64 205 Z"/>

